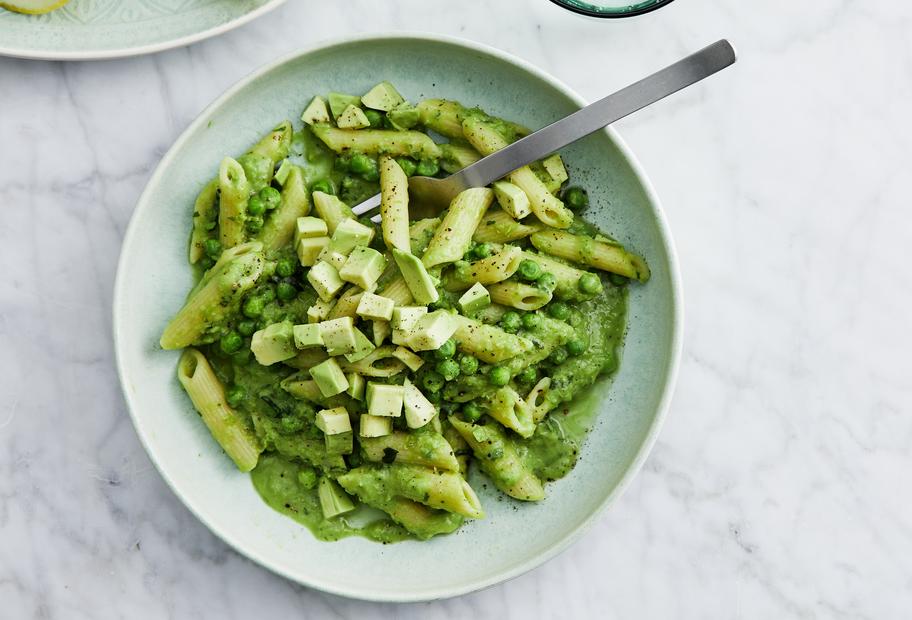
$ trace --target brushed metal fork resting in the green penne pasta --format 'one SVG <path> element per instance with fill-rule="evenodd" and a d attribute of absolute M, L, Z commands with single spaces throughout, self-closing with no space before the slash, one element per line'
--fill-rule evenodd
<path fill-rule="evenodd" d="M 432 205 L 437 211 L 442 211 L 461 191 L 493 183 L 517 168 L 542 159 L 628 114 L 721 71 L 735 60 L 732 45 L 725 39 L 717 41 L 446 178 L 410 177 L 409 195 L 425 206 Z M 366 215 L 379 206 L 380 194 L 377 194 L 356 205 L 352 211 L 355 215 Z M 379 215 L 374 217 L 375 220 L 378 218 Z"/>

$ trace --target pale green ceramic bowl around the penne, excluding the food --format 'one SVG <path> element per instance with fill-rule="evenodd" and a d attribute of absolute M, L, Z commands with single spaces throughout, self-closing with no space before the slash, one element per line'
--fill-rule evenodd
<path fill-rule="evenodd" d="M 655 441 L 680 354 L 680 292 L 658 199 L 620 138 L 602 132 L 565 151 L 571 178 L 590 191 L 589 216 L 649 261 L 633 286 L 629 333 L 613 384 L 588 397 L 599 421 L 576 469 L 520 504 L 472 486 L 487 518 L 430 542 L 383 546 L 360 538 L 320 542 L 264 504 L 182 393 L 178 354 L 158 338 L 191 287 L 186 262 L 194 197 L 226 154 L 243 152 L 282 119 L 297 120 L 315 93 L 360 93 L 387 79 L 412 101 L 450 97 L 540 127 L 584 102 L 531 65 L 455 39 L 391 35 L 348 39 L 281 59 L 206 109 L 165 155 L 127 230 L 114 295 L 117 364 L 143 445 L 178 497 L 239 552 L 327 592 L 382 601 L 455 596 L 515 577 L 579 537 L 629 484 Z"/>

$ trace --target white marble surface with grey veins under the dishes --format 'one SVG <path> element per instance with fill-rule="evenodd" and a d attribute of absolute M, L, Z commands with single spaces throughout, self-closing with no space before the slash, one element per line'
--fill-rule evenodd
<path fill-rule="evenodd" d="M 912 604 L 912 5 L 292 0 L 189 49 L 0 59 L 0 617 L 902 618 Z M 618 124 L 681 256 L 685 354 L 644 471 L 512 582 L 408 606 L 294 585 L 211 535 L 126 415 L 111 290 L 135 201 L 217 94 L 317 37 L 431 30 L 594 98 L 722 36 L 736 69 Z"/>

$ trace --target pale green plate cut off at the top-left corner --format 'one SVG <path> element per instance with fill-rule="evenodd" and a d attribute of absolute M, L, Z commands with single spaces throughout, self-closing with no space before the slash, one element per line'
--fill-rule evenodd
<path fill-rule="evenodd" d="M 70 0 L 45 15 L 0 9 L 0 56 L 97 60 L 208 39 L 285 0 Z"/>

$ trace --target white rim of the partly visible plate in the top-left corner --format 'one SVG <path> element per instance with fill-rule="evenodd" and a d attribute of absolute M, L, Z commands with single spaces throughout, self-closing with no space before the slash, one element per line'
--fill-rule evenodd
<path fill-rule="evenodd" d="M 9 58 L 22 58 L 25 60 L 61 60 L 61 61 L 73 61 L 73 60 L 111 60 L 114 58 L 131 58 L 133 56 L 144 56 L 146 54 L 155 54 L 158 52 L 164 52 L 166 50 L 186 47 L 194 43 L 199 43 L 206 39 L 211 39 L 212 37 L 217 37 L 226 32 L 234 30 L 235 28 L 240 28 L 245 24 L 252 22 L 273 11 L 288 0 L 269 0 L 262 6 L 255 8 L 252 11 L 236 17 L 231 21 L 225 22 L 219 26 L 214 26 L 212 28 L 207 28 L 199 32 L 192 32 L 188 35 L 184 35 L 177 39 L 169 39 L 167 41 L 160 41 L 158 43 L 149 43 L 147 45 L 139 45 L 135 47 L 120 47 L 110 50 L 99 50 L 99 49 L 89 49 L 89 50 L 75 50 L 68 52 L 56 52 L 54 50 L 48 49 L 23 49 L 19 47 L 4 47 L 0 45 L 0 56 L 7 56 Z"/>

